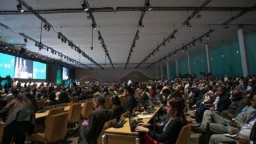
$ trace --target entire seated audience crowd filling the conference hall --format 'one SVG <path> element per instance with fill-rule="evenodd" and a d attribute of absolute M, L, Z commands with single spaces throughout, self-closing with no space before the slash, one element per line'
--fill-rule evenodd
<path fill-rule="evenodd" d="M 93 112 L 75 124 L 78 143 L 97 143 L 106 122 L 123 113 L 134 113 L 151 103 L 161 103 L 155 120 L 139 123 L 140 143 L 175 143 L 179 132 L 194 118 L 199 125 L 199 143 L 255 143 L 256 76 L 252 77 L 176 77 L 170 81 L 93 82 L 68 86 L 20 82 L 11 88 L 0 88 L 0 117 L 5 122 L 2 143 L 24 143 L 34 125 L 44 124 L 35 113 L 67 103 L 93 103 Z M 72 99 L 77 98 L 73 101 Z M 93 98 L 93 99 L 92 99 Z M 110 101 L 110 109 L 105 107 Z M 44 109 L 37 105 L 44 101 Z M 69 104 L 70 105 L 70 104 Z M 152 105 L 153 106 L 153 105 Z M 154 108 L 154 107 L 153 107 Z M 187 109 L 195 116 L 187 117 Z M 77 111 L 81 113 L 81 111 Z M 78 131 L 79 130 L 79 131 Z M 225 134 L 225 135 L 224 135 Z"/>

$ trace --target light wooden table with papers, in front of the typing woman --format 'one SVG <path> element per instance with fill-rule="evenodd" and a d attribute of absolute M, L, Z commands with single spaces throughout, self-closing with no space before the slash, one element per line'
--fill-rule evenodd
<path fill-rule="evenodd" d="M 161 105 L 162 106 L 162 105 Z M 156 111 L 151 113 L 151 118 L 142 118 L 142 121 L 146 124 L 149 123 L 152 118 L 158 113 L 161 109 L 160 107 L 155 107 Z M 142 112 L 146 113 L 146 112 Z M 138 119 L 139 117 L 134 117 Z M 105 130 L 104 135 L 102 135 L 102 143 L 121 143 L 121 144 L 131 144 L 131 143 L 140 143 L 139 132 L 131 132 L 129 118 L 125 118 L 125 124 L 122 128 L 108 128 Z"/>

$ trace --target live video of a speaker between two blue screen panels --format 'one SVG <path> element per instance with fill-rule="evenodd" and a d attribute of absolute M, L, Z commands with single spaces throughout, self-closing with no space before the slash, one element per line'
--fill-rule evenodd
<path fill-rule="evenodd" d="M 15 58 L 14 78 L 32 79 L 33 78 L 33 61 L 24 58 Z"/>

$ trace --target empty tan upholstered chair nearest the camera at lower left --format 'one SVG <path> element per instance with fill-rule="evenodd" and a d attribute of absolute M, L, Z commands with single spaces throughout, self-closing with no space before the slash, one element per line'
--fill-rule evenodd
<path fill-rule="evenodd" d="M 53 143 L 63 140 L 66 136 L 68 125 L 68 112 L 52 115 L 43 133 L 32 134 L 27 137 L 28 141 L 41 143 Z"/>

